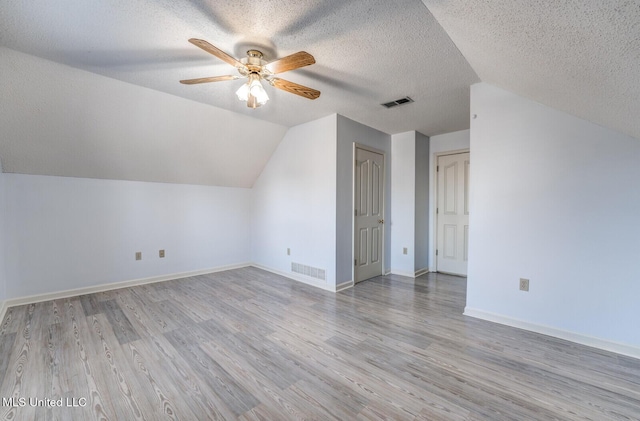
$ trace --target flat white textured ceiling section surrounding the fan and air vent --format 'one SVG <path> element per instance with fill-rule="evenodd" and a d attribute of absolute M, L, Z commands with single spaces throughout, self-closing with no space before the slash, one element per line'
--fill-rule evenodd
<path fill-rule="evenodd" d="M 0 27 L 8 48 L 285 126 L 339 113 L 386 133 L 464 129 L 478 81 L 419 0 L 3 0 Z M 267 87 L 271 101 L 250 110 L 234 96 L 242 81 L 181 85 L 235 73 L 192 37 L 235 57 L 305 50 L 316 64 L 282 78 L 322 95 Z M 410 106 L 380 106 L 407 95 Z"/>

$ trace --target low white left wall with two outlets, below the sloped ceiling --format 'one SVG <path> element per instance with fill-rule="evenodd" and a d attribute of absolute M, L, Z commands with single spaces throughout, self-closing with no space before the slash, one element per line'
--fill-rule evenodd
<path fill-rule="evenodd" d="M 7 298 L 250 261 L 249 189 L 3 176 Z"/>

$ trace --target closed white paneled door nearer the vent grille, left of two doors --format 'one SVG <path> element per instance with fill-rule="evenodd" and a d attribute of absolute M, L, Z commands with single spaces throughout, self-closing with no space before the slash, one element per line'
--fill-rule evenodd
<path fill-rule="evenodd" d="M 355 282 L 382 275 L 384 156 L 356 148 Z"/>

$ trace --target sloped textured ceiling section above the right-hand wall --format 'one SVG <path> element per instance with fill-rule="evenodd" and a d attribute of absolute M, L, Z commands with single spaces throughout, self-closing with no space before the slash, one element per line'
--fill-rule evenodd
<path fill-rule="evenodd" d="M 640 139 L 640 1 L 423 2 L 483 82 Z"/>

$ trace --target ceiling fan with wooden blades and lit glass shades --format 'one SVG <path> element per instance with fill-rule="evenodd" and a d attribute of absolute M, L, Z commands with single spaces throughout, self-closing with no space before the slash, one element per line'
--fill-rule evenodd
<path fill-rule="evenodd" d="M 241 101 L 246 101 L 247 107 L 249 108 L 257 108 L 269 100 L 266 91 L 260 83 L 261 80 L 268 82 L 275 88 L 300 95 L 304 98 L 316 99 L 320 96 L 320 91 L 274 76 L 315 63 L 316 60 L 313 56 L 305 51 L 299 51 L 268 63 L 262 59 L 262 52 L 258 50 L 249 50 L 247 51 L 247 57 L 237 60 L 219 48 L 209 44 L 207 41 L 191 38 L 189 42 L 234 66 L 238 70 L 238 73 L 240 73 L 240 76 L 202 77 L 198 79 L 181 80 L 180 83 L 194 85 L 197 83 L 222 82 L 225 80 L 247 78 L 249 80 L 236 91 L 236 95 Z"/>

